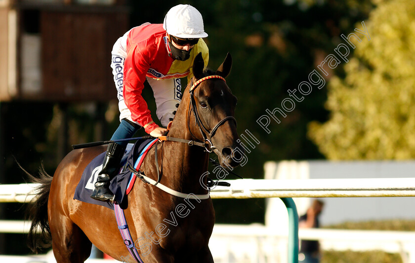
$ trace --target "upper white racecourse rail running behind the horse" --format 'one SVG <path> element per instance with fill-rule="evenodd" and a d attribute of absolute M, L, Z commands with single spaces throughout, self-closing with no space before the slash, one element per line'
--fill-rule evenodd
<path fill-rule="evenodd" d="M 212 198 L 415 197 L 415 178 L 238 179 L 217 186 Z M 0 202 L 28 202 L 36 184 L 0 185 Z"/>

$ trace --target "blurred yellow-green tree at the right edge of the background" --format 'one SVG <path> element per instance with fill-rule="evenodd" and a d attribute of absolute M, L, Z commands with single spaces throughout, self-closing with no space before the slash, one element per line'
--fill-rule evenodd
<path fill-rule="evenodd" d="M 377 0 L 345 77 L 328 85 L 330 120 L 308 136 L 331 160 L 415 157 L 415 1 Z M 367 40 L 367 39 L 365 39 Z"/>

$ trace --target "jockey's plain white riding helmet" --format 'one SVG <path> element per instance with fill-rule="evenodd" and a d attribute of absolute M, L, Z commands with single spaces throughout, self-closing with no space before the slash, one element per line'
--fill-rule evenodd
<path fill-rule="evenodd" d="M 201 13 L 190 4 L 179 4 L 168 10 L 163 28 L 180 38 L 207 37 Z"/>

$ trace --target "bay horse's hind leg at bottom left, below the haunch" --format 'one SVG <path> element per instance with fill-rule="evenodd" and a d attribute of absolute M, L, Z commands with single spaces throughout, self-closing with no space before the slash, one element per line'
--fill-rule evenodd
<path fill-rule="evenodd" d="M 56 262 L 83 263 L 89 257 L 92 246 L 83 231 L 66 217 L 61 217 L 59 222 L 50 223 Z"/>

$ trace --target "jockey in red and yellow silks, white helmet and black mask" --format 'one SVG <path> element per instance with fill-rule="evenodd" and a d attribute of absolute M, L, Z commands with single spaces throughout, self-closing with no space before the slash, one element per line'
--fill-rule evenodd
<path fill-rule="evenodd" d="M 203 18 L 189 4 L 172 7 L 163 24 L 145 23 L 132 28 L 114 44 L 111 67 L 118 92 L 121 124 L 111 140 L 131 138 L 144 127 L 151 136 L 166 134 L 173 120 L 182 93 L 180 78 L 193 77 L 193 60 L 200 52 L 207 65 L 209 55 L 205 41 Z M 163 127 L 151 118 L 146 101 L 141 96 L 145 80 L 156 99 L 156 115 Z M 124 155 L 128 141 L 110 143 L 103 167 L 95 182 L 92 198 L 108 201 L 114 195 L 108 189 L 110 180 Z"/>

